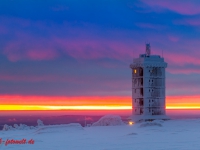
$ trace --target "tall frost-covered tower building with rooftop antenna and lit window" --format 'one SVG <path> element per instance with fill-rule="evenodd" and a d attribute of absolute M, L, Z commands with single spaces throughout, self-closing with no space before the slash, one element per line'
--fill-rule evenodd
<path fill-rule="evenodd" d="M 132 120 L 169 119 L 165 114 L 165 68 L 167 63 L 159 55 L 146 54 L 133 59 Z"/>

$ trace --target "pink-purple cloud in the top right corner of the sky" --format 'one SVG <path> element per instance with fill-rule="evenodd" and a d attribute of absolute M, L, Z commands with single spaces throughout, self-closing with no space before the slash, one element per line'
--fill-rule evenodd
<path fill-rule="evenodd" d="M 185 15 L 195 15 L 200 13 L 200 4 L 191 2 L 190 0 L 142 0 L 142 2 L 153 7 L 158 6 Z"/>

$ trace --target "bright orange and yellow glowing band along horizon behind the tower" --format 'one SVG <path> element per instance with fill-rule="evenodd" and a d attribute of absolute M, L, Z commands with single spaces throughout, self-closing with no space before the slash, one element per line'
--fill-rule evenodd
<path fill-rule="evenodd" d="M 0 110 L 131 110 L 130 96 L 0 95 Z M 168 96 L 166 109 L 200 109 L 200 96 Z"/>

